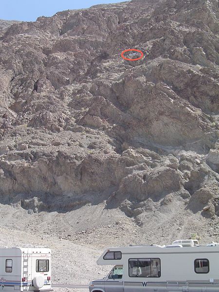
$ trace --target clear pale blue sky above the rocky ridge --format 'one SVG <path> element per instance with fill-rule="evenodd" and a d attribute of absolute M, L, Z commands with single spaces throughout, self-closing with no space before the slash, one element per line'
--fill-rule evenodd
<path fill-rule="evenodd" d="M 35 21 L 39 16 L 52 16 L 58 11 L 123 1 L 125 0 L 0 0 L 0 19 Z"/>

